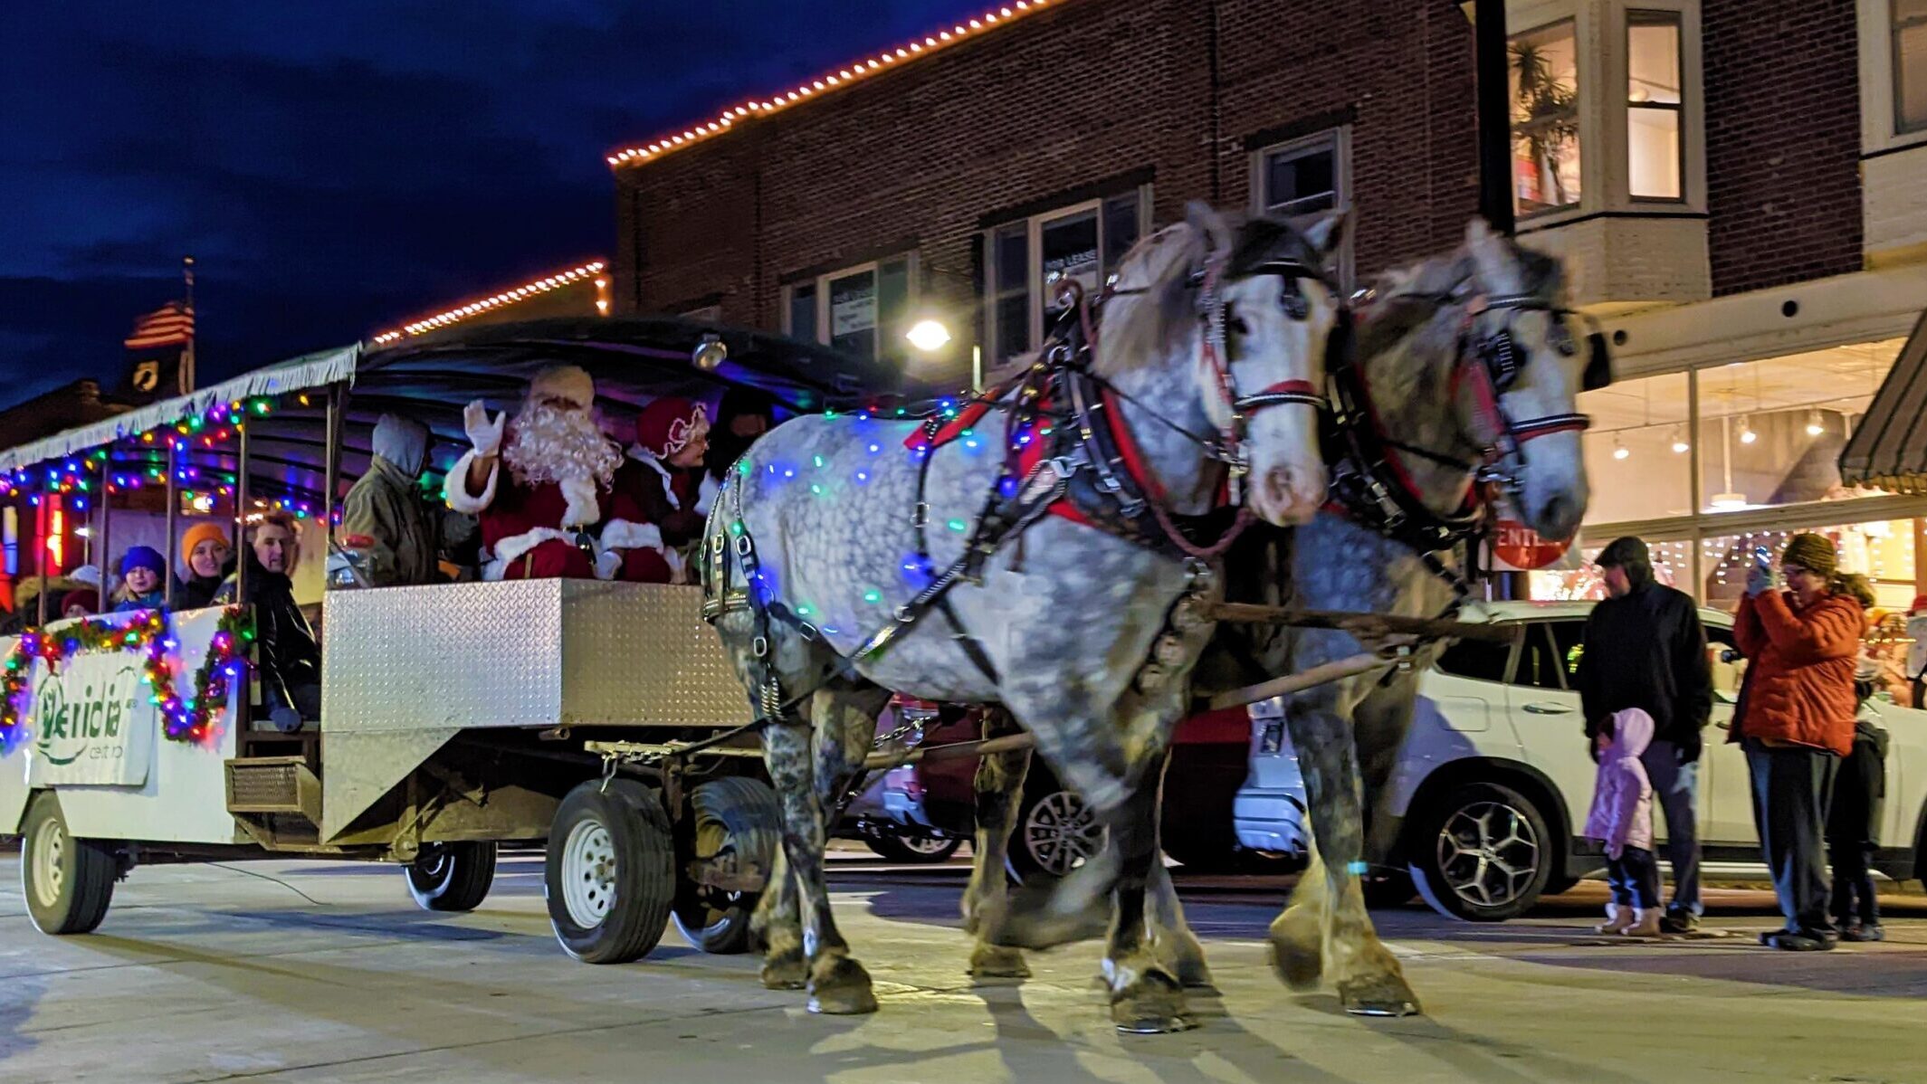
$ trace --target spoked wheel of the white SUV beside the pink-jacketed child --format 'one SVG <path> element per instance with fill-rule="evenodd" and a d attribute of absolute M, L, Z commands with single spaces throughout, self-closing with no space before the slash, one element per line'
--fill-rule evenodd
<path fill-rule="evenodd" d="M 1439 915 L 1468 922 L 1517 918 L 1551 878 L 1545 816 L 1511 787 L 1457 787 L 1411 828 L 1412 886 Z"/>

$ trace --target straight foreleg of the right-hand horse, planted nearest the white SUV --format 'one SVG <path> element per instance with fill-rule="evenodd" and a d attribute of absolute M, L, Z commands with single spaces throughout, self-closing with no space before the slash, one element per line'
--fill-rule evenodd
<path fill-rule="evenodd" d="M 1345 685 L 1345 684 L 1341 684 Z M 1301 693 L 1287 709 L 1291 745 L 1299 751 L 1305 772 L 1305 791 L 1310 799 L 1312 836 L 1324 859 L 1324 970 L 1337 986 L 1339 1003 L 1347 1013 L 1364 1017 L 1411 1017 L 1418 1013 L 1418 995 L 1405 982 L 1391 949 L 1378 940 L 1372 916 L 1364 907 L 1364 801 L 1357 743 L 1339 710 L 1341 689 L 1324 687 Z M 1353 699 L 1357 703 L 1357 699 Z M 1307 876 L 1310 882 L 1310 876 Z M 1287 949 L 1293 930 L 1289 911 L 1283 943 L 1274 938 L 1280 972 L 1291 980 Z"/>

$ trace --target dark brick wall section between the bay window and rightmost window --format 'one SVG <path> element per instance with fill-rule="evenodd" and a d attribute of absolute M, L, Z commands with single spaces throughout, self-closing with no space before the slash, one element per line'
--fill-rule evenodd
<path fill-rule="evenodd" d="M 1854 0 L 1703 0 L 1713 293 L 1861 270 Z"/>

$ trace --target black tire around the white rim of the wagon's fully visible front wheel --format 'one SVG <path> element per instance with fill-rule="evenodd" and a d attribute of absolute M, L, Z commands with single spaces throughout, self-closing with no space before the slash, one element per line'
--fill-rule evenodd
<path fill-rule="evenodd" d="M 584 820 L 607 828 L 615 849 L 615 905 L 595 926 L 578 926 L 563 899 L 563 849 Z M 590 780 L 563 797 L 549 824 L 541 895 L 563 951 L 582 963 L 630 963 L 649 955 L 669 928 L 676 897 L 676 841 L 655 791 L 634 780 Z"/>

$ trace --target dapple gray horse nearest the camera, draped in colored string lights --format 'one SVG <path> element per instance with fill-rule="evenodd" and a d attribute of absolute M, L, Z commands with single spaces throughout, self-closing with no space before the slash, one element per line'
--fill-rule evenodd
<path fill-rule="evenodd" d="M 1335 221 L 1299 231 L 1193 210 L 1189 221 L 1125 258 L 1118 293 L 1104 304 L 1095 372 L 1114 391 L 1118 418 L 1168 512 L 1216 506 L 1222 452 L 1199 435 L 1231 431 L 1233 399 L 1322 385 L 1339 300 L 1316 268 L 1335 237 Z M 1216 320 L 1222 337 L 1212 331 Z M 989 412 L 965 439 L 929 452 L 927 464 L 906 451 L 915 424 L 798 418 L 757 441 L 711 512 L 705 545 L 728 547 L 723 580 L 740 585 L 752 566 L 750 589 L 796 618 L 771 620 L 759 641 L 755 610 L 725 607 L 717 632 L 759 712 L 775 699 L 769 676 L 790 701 L 779 705 L 788 714 L 763 726 L 784 824 L 755 926 L 765 942 L 763 982 L 807 984 L 813 1011 L 877 1007 L 869 974 L 831 918 L 823 847 L 825 809 L 861 768 L 890 691 L 1004 705 L 1118 843 L 1046 905 L 987 915 L 996 940 L 1046 947 L 1079 936 L 1093 913 L 1108 913 L 1120 878 L 1141 882 L 1156 861 L 1156 787 L 1141 784 L 1154 782 L 1152 768 L 1183 714 L 1185 674 L 1210 635 L 1208 622 L 1174 622 L 1174 608 L 1197 585 L 1193 564 L 1044 516 L 989 556 L 981 583 L 960 581 L 948 593 L 956 626 L 981 645 L 977 657 L 938 612 L 900 624 L 884 649 L 859 655 L 929 583 L 931 570 L 950 568 L 964 553 L 971 520 L 1000 477 L 1006 418 Z M 1326 491 L 1316 410 L 1281 404 L 1251 410 L 1245 422 L 1251 508 L 1272 524 L 1307 522 Z M 919 493 L 929 562 L 919 556 Z M 1133 678 L 1154 645 L 1170 680 L 1141 691 Z M 794 703 L 802 693 L 807 701 Z M 1145 953 L 1123 951 L 1120 974 L 1156 970 Z M 1120 982 L 1114 999 L 1156 997 L 1166 986 Z"/>

